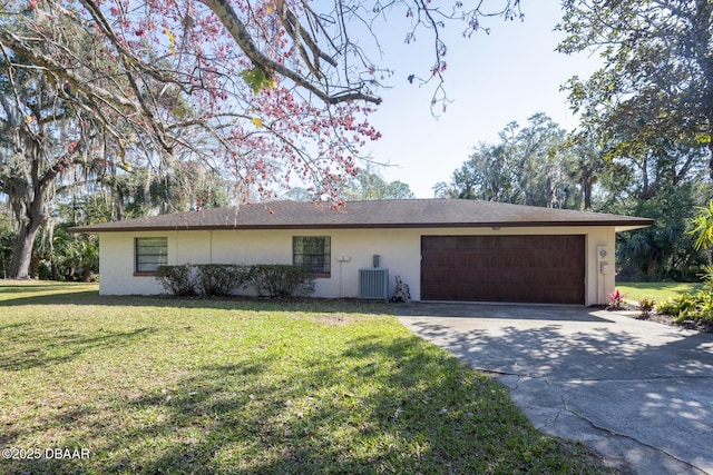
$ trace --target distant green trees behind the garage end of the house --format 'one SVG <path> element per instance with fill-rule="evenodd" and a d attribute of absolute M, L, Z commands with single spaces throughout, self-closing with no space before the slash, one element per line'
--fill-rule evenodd
<path fill-rule="evenodd" d="M 437 195 L 652 218 L 649 228 L 617 234 L 619 278 L 695 279 L 704 256 L 691 220 L 713 196 L 702 150 L 662 140 L 643 155 L 614 157 L 593 130 L 566 136 L 544 115 L 524 128 L 509 123 L 500 139 L 476 147 Z"/>

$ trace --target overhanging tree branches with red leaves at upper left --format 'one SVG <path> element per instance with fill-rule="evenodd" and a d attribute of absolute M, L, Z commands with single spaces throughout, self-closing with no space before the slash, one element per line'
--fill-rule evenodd
<path fill-rule="evenodd" d="M 409 80 L 434 81 L 434 105 L 446 100 L 439 32 L 521 17 L 519 0 L 501 3 L 489 12 L 481 1 L 18 0 L 0 4 L 0 46 L 9 76 L 41 75 L 76 127 L 94 130 L 126 169 L 201 159 L 232 176 L 243 199 L 299 181 L 339 208 L 361 148 L 380 136 L 368 120 L 390 76 L 371 59 L 379 22 L 400 14 L 412 20 L 407 42 L 432 36 L 432 68 Z M 46 169 L 69 165 L 47 157 Z"/>

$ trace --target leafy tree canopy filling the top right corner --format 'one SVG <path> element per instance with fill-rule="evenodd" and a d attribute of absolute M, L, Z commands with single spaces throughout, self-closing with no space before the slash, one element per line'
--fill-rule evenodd
<path fill-rule="evenodd" d="M 614 156 L 663 142 L 709 149 L 713 176 L 713 2 L 566 0 L 565 53 L 597 51 L 604 66 L 565 86 Z"/>

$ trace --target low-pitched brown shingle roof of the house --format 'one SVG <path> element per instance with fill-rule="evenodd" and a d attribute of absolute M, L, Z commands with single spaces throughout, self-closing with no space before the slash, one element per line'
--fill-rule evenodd
<path fill-rule="evenodd" d="M 180 229 L 437 228 L 522 226 L 651 226 L 653 219 L 468 199 L 351 201 L 345 211 L 301 201 L 273 201 L 101 222 L 74 232 Z"/>

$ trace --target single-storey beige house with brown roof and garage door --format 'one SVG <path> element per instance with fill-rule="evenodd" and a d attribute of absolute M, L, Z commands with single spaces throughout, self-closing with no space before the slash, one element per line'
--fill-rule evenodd
<path fill-rule="evenodd" d="M 653 220 L 461 199 L 275 201 L 76 227 L 100 239 L 100 294 L 160 294 L 158 265 L 302 264 L 315 296 L 606 304 L 615 234 Z"/>

